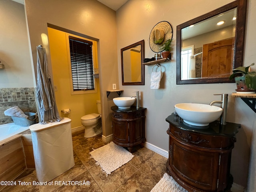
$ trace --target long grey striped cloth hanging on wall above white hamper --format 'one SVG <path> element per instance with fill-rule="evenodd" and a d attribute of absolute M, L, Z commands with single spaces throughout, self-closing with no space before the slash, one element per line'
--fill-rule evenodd
<path fill-rule="evenodd" d="M 41 45 L 37 49 L 37 82 L 36 96 L 40 114 L 40 124 L 60 121 L 60 115 L 55 102 L 55 94 L 52 86 L 46 50 Z"/>

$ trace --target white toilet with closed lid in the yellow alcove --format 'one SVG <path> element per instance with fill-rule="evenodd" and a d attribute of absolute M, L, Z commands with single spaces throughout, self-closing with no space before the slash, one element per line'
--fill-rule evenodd
<path fill-rule="evenodd" d="M 97 100 L 97 107 L 99 114 L 92 113 L 81 117 L 81 123 L 85 127 L 85 138 L 93 137 L 102 133 L 100 100 Z"/>

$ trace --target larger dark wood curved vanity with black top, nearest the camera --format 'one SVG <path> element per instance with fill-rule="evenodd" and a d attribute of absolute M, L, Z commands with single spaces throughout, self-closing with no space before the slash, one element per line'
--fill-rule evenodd
<path fill-rule="evenodd" d="M 221 125 L 216 120 L 198 127 L 184 123 L 174 114 L 166 121 L 169 123 L 168 174 L 189 192 L 228 191 L 233 182 L 231 151 L 240 124 Z"/>

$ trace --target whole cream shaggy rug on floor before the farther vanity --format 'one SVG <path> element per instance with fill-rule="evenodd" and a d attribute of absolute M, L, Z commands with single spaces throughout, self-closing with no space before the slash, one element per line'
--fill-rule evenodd
<path fill-rule="evenodd" d="M 107 176 L 134 157 L 129 151 L 113 142 L 93 150 L 90 155 L 90 158 L 94 158 L 96 165 L 100 165 L 102 172 L 106 172 Z"/>

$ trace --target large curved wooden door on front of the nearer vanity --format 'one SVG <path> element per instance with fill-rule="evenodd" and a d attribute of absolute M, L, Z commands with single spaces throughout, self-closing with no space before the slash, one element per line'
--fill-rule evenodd
<path fill-rule="evenodd" d="M 195 150 L 171 139 L 170 166 L 181 180 L 200 190 L 217 190 L 219 153 Z"/>

